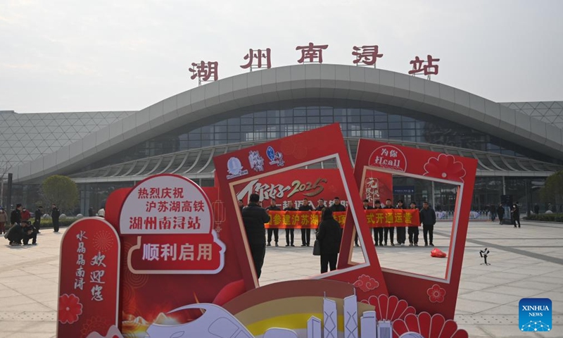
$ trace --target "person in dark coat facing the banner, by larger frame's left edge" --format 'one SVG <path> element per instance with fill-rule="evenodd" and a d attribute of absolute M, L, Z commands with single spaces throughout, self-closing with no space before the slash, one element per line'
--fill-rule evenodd
<path fill-rule="evenodd" d="M 260 278 L 262 274 L 262 265 L 264 265 L 264 257 L 266 256 L 266 237 L 264 223 L 270 222 L 270 215 L 264 208 L 260 208 L 258 204 L 260 196 L 251 194 L 250 203 L 242 211 L 242 220 L 244 230 L 246 230 L 246 238 L 248 246 L 251 249 L 252 260 L 256 276 Z"/>

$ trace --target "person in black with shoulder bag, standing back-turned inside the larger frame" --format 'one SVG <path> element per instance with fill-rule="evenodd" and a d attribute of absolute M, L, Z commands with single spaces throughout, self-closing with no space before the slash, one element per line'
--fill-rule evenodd
<path fill-rule="evenodd" d="M 341 232 L 340 224 L 332 216 L 330 208 L 322 209 L 321 223 L 315 234 L 321 247 L 321 273 L 336 270 L 336 261 L 339 258 Z"/>

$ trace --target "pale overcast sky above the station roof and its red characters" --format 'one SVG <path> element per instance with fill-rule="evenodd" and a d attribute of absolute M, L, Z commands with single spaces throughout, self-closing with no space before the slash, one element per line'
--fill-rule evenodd
<path fill-rule="evenodd" d="M 197 86 L 192 62 L 219 78 L 249 49 L 272 67 L 296 46 L 328 44 L 352 65 L 379 46 L 377 68 L 407 73 L 440 58 L 433 81 L 497 102 L 563 101 L 563 1 L 0 0 L 0 111 L 137 111 Z"/>

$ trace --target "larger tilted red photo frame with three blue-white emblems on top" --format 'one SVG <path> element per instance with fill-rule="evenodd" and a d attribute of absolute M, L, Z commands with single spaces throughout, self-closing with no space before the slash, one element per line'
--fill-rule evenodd
<path fill-rule="evenodd" d="M 344 196 L 346 196 L 339 197 L 348 200 L 347 217 L 350 223 L 346 227 L 349 227 L 350 231 L 354 231 L 354 228 L 358 230 L 366 263 L 312 276 L 312 278 L 326 278 L 353 284 L 358 282 L 360 276 L 363 275 L 372 280 L 371 285 L 374 287 L 358 289 L 359 296 L 362 299 L 387 294 L 386 283 L 381 275 L 381 267 L 372 245 L 371 231 L 363 213 L 362 199 L 358 194 L 358 186 L 353 177 L 348 149 L 346 149 L 338 124 L 275 139 L 213 158 L 217 185 L 221 192 L 221 198 L 224 199 L 227 214 L 236 215 L 236 217 L 229 218 L 227 226 L 237 229 L 234 233 L 235 241 L 244 244 L 236 246 L 234 249 L 239 256 L 241 266 L 249 268 L 248 271 L 243 273 L 247 289 L 258 287 L 258 279 L 251 264 L 250 249 L 244 235 L 241 211 L 236 203 L 236 187 L 244 186 L 256 179 L 282 173 L 293 175 L 298 168 L 322 161 L 334 161 L 339 167 L 340 181 L 345 192 Z M 348 249 L 350 249 L 350 246 L 348 246 Z"/>

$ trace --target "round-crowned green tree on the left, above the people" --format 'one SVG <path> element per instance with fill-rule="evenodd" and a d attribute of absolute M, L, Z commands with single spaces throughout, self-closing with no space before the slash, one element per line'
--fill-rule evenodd
<path fill-rule="evenodd" d="M 63 175 L 47 177 L 41 188 L 44 201 L 48 205 L 56 204 L 61 211 L 72 210 L 78 204 L 78 187 L 69 177 Z"/>

